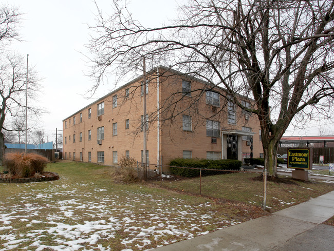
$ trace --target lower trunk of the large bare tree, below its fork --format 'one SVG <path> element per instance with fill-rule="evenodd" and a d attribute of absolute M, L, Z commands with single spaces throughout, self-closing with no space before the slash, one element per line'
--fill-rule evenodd
<path fill-rule="evenodd" d="M 267 169 L 268 176 L 277 177 L 277 148 L 279 143 L 274 140 L 262 142 L 264 157 L 265 157 L 265 168 Z"/>

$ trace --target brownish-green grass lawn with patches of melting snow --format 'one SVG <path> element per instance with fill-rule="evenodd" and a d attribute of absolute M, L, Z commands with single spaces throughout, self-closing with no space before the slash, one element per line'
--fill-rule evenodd
<path fill-rule="evenodd" d="M 201 197 L 191 195 L 195 179 L 161 189 L 115 182 L 113 167 L 92 163 L 51 163 L 46 171 L 60 179 L 0 183 L 0 250 L 145 250 L 266 214 L 254 206 L 263 189 L 254 173 L 205 177 Z M 277 210 L 333 189 L 268 182 L 267 205 Z"/>

